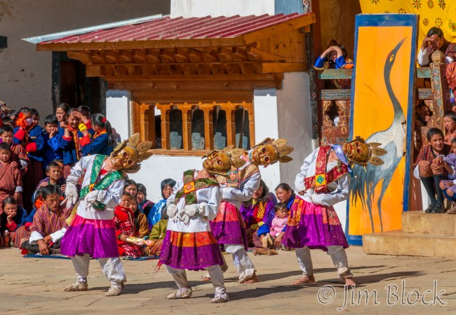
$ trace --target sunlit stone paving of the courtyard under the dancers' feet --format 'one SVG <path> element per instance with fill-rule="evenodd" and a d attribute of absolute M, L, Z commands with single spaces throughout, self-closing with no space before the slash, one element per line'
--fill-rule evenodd
<path fill-rule="evenodd" d="M 92 260 L 89 290 L 69 293 L 62 288 L 74 281 L 71 260 L 22 258 L 17 248 L 1 248 L 0 314 L 456 314 L 455 259 L 367 255 L 357 246 L 347 254 L 359 283 L 353 290 L 343 289 L 323 251 L 312 251 L 317 283 L 305 286 L 290 285 L 300 277 L 294 252 L 250 253 L 260 279 L 252 285 L 236 282 L 226 256 L 230 301 L 210 304 L 213 288 L 200 281 L 203 272 L 187 272 L 191 299 L 166 300 L 175 283 L 164 267 L 154 275 L 157 260 L 123 260 L 127 286 L 105 297 L 109 283 Z"/>

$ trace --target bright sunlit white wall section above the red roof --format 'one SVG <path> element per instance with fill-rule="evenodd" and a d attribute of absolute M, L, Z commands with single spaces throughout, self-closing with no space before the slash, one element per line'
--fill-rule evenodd
<path fill-rule="evenodd" d="M 274 15 L 274 0 L 171 0 L 171 18 Z"/>

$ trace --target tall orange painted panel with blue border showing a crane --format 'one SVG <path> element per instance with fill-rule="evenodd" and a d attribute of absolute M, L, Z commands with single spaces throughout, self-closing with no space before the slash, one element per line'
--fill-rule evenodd
<path fill-rule="evenodd" d="M 350 137 L 379 142 L 384 165 L 356 165 L 347 209 L 351 244 L 401 229 L 408 207 L 416 15 L 356 15 Z"/>

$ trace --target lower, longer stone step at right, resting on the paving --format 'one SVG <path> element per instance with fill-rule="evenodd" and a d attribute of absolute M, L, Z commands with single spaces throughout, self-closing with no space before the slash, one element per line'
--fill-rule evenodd
<path fill-rule="evenodd" d="M 456 235 L 418 234 L 400 230 L 368 234 L 363 235 L 363 250 L 369 254 L 456 258 Z"/>

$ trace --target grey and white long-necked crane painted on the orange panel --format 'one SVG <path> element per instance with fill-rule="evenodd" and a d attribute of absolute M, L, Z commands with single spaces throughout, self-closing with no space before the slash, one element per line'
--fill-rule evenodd
<path fill-rule="evenodd" d="M 390 79 L 391 69 L 394 66 L 394 61 L 396 60 L 396 54 L 404 41 L 405 38 L 400 41 L 396 47 L 391 50 L 391 52 L 389 52 L 383 69 L 384 83 L 387 87 L 389 99 L 391 99 L 394 109 L 393 122 L 387 130 L 375 132 L 374 134 L 371 134 L 368 139 L 366 139 L 367 143 L 379 142 L 382 144 L 380 148 L 384 148 L 384 150 L 387 151 L 387 153 L 382 156 L 384 164 L 380 166 L 368 165 L 366 170 L 359 165 L 355 165 L 353 169 L 356 178 L 351 182 L 351 201 L 356 204 L 356 200 L 359 198 L 363 209 L 366 209 L 366 207 L 368 208 L 372 232 L 375 232 L 372 214 L 372 203 L 375 195 L 375 188 L 377 187 L 377 184 L 383 180 L 382 190 L 380 191 L 380 196 L 377 200 L 378 214 L 380 216 L 380 229 L 381 232 L 383 232 L 382 199 L 389 183 L 391 183 L 391 179 L 393 178 L 399 162 L 401 162 L 401 159 L 403 158 L 403 144 L 406 134 L 405 116 L 401 104 L 391 87 Z"/>

